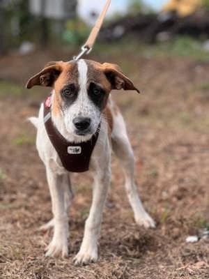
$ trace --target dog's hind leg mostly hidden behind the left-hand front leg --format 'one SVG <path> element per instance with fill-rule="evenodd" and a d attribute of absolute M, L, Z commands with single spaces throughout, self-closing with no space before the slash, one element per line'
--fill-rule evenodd
<path fill-rule="evenodd" d="M 73 193 L 72 193 L 72 188 L 71 188 L 71 182 L 70 182 L 70 177 L 68 176 L 68 178 L 66 177 L 66 181 L 63 184 L 63 188 L 64 188 L 64 199 L 65 199 L 65 211 L 68 212 L 70 205 L 72 204 L 72 199 L 74 197 Z M 54 227 L 54 218 L 52 220 L 49 220 L 49 222 L 47 222 L 45 225 L 40 226 L 40 228 L 38 230 L 40 231 L 47 231 L 48 229 L 51 229 L 52 227 Z"/>

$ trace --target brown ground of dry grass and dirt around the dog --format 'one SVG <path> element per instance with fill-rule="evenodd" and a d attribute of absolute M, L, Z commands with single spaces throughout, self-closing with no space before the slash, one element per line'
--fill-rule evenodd
<path fill-rule="evenodd" d="M 141 94 L 114 92 L 136 159 L 136 180 L 156 229 L 134 223 L 123 174 L 113 156 L 113 175 L 100 237 L 100 259 L 77 267 L 84 221 L 91 204 L 91 177 L 74 174 L 70 209 L 70 256 L 45 258 L 52 231 L 49 190 L 26 121 L 38 113 L 47 91 L 24 89 L 45 62 L 71 52 L 6 56 L 0 68 L 0 278 L 164 279 L 209 278 L 209 240 L 186 243 L 209 224 L 209 62 L 171 56 L 95 52 L 93 59 L 118 63 Z M 93 54 L 92 54 L 93 55 Z"/>

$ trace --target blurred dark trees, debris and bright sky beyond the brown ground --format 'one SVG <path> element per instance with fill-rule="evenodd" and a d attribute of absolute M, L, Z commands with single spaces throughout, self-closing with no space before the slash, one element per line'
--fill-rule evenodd
<path fill-rule="evenodd" d="M 79 47 L 105 1 L 1 0 L 0 55 Z M 181 38 L 209 50 L 208 0 L 114 0 L 100 42 L 168 43 Z M 187 37 L 187 38 L 185 38 Z M 178 46 L 180 42 L 175 42 Z M 193 42 L 193 43 L 192 43 Z M 172 41 L 173 43 L 173 41 Z"/>

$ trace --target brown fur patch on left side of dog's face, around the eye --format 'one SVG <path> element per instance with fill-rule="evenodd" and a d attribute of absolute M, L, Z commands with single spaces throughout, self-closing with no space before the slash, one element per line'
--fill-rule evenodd
<path fill-rule="evenodd" d="M 61 114 L 62 107 L 64 106 L 63 98 L 61 97 L 61 89 L 68 84 L 75 84 L 78 88 L 78 69 L 77 62 L 70 61 L 63 65 L 63 71 L 54 84 L 54 100 L 52 114 L 54 116 Z"/>

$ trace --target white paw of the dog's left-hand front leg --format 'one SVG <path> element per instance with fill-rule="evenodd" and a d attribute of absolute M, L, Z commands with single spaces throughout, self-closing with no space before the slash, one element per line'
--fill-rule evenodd
<path fill-rule="evenodd" d="M 47 246 L 46 257 L 68 257 L 68 238 L 67 237 L 53 237 L 52 242 Z"/>

